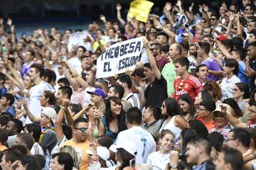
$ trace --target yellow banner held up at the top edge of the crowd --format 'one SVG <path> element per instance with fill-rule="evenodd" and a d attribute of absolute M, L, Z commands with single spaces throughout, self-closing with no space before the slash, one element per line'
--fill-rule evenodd
<path fill-rule="evenodd" d="M 154 3 L 151 1 L 135 0 L 130 5 L 128 16 L 146 23 L 152 6 L 154 6 Z"/>

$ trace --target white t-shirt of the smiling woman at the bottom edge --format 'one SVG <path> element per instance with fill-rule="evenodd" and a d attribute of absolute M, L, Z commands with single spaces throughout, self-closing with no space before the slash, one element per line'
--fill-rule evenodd
<path fill-rule="evenodd" d="M 149 164 L 152 170 L 164 170 L 166 165 L 170 162 L 171 154 L 161 154 L 158 152 L 153 152 L 149 154 L 146 164 Z"/>

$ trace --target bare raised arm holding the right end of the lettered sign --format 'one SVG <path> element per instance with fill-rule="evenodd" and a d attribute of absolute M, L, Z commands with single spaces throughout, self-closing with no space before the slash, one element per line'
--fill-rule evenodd
<path fill-rule="evenodd" d="M 151 66 L 152 71 L 154 72 L 154 75 L 156 79 L 161 79 L 161 72 L 159 71 L 157 65 L 156 65 L 156 60 L 154 59 L 150 49 L 149 49 L 149 41 L 146 40 L 146 38 L 143 38 L 143 43 L 144 43 L 144 48 L 146 50 L 146 55 L 148 56 L 149 59 L 149 64 Z"/>

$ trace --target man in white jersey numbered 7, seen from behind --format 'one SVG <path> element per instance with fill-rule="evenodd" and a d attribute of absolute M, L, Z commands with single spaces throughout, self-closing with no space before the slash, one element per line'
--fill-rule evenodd
<path fill-rule="evenodd" d="M 156 149 L 156 143 L 152 135 L 141 128 L 142 111 L 139 108 L 130 108 L 127 112 L 127 128 L 119 132 L 117 139 L 110 147 L 110 157 L 114 158 L 117 147 L 124 141 L 131 141 L 137 146 L 136 164 L 146 163 L 146 159 Z"/>

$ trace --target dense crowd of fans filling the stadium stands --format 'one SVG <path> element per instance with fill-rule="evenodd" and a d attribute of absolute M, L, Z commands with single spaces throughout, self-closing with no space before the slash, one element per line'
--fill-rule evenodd
<path fill-rule="evenodd" d="M 16 37 L 0 18 L 0 169 L 256 169 L 256 1 L 241 2 L 178 0 L 146 23 L 117 4 L 70 49 L 82 30 Z M 97 79 L 100 55 L 140 37 L 134 70 Z"/>

